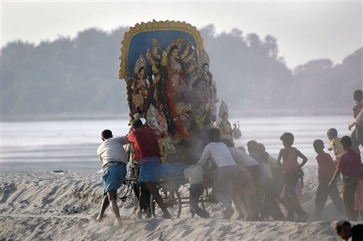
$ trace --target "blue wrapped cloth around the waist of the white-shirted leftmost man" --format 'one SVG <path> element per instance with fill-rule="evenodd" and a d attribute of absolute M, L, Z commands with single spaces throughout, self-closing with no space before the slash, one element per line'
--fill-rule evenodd
<path fill-rule="evenodd" d="M 116 165 L 108 167 L 102 175 L 102 189 L 104 190 L 104 195 L 108 191 L 118 189 L 123 181 L 125 181 L 126 167 L 123 165 Z"/>

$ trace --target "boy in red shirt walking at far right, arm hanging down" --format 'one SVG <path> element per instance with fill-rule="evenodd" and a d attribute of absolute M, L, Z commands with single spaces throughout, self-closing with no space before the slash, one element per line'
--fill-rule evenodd
<path fill-rule="evenodd" d="M 339 161 L 337 162 L 337 170 L 330 181 L 329 186 L 332 186 L 340 172 L 343 175 L 343 202 L 345 206 L 345 212 L 347 213 L 348 219 L 357 221 L 358 212 L 354 210 L 354 193 L 357 190 L 359 183 L 359 176 L 362 175 L 362 162 L 360 155 L 352 147 L 352 140 L 349 136 L 343 136 L 340 139 L 345 152 L 340 155 Z"/>

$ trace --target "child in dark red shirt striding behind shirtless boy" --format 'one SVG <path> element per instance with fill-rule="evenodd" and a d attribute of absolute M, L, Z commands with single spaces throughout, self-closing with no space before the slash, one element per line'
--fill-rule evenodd
<path fill-rule="evenodd" d="M 328 186 L 329 181 L 333 178 L 336 169 L 333 158 L 330 157 L 328 153 L 324 152 L 323 140 L 314 140 L 313 147 L 315 152 L 318 153 L 316 160 L 318 161 L 319 181 L 315 196 L 315 216 L 320 217 L 328 195 L 332 199 L 337 211 L 339 213 L 343 213 L 343 203 L 339 196 L 337 182 L 335 181 L 330 187 Z"/>

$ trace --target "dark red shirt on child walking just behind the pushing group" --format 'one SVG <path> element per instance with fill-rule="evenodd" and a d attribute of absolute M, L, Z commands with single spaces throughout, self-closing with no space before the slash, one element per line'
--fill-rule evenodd
<path fill-rule="evenodd" d="M 326 152 L 320 152 L 316 156 L 318 161 L 318 179 L 319 181 L 329 182 L 335 173 L 335 164 L 333 158 Z"/>

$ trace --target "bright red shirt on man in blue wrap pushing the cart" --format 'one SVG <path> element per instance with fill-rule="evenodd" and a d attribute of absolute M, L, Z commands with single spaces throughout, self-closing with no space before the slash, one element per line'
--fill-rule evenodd
<path fill-rule="evenodd" d="M 160 157 L 157 136 L 152 131 L 145 128 L 132 130 L 128 133 L 128 141 L 133 142 L 136 162 L 144 157 Z"/>

